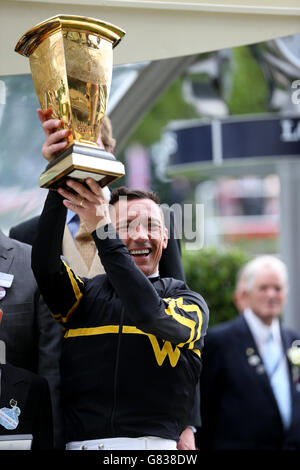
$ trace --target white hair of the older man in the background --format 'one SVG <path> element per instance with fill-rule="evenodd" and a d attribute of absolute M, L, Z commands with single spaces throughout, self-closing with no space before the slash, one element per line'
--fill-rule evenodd
<path fill-rule="evenodd" d="M 272 271 L 277 272 L 283 280 L 284 288 L 288 289 L 288 272 L 283 261 L 276 256 L 261 255 L 249 261 L 240 273 L 248 292 L 253 288 L 255 279 L 263 268 L 270 268 Z"/>

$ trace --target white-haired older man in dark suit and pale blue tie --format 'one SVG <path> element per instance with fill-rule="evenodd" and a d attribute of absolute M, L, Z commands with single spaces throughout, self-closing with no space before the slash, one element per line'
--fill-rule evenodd
<path fill-rule="evenodd" d="M 243 269 L 246 310 L 211 328 L 200 378 L 200 449 L 300 449 L 300 335 L 279 322 L 287 270 L 274 256 Z"/>

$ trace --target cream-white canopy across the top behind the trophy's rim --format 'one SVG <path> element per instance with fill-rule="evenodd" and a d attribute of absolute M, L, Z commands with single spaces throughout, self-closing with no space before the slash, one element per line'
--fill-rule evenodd
<path fill-rule="evenodd" d="M 20 36 L 56 14 L 90 16 L 126 31 L 115 64 L 165 59 L 300 32 L 299 0 L 0 0 L 0 75 L 29 73 Z"/>

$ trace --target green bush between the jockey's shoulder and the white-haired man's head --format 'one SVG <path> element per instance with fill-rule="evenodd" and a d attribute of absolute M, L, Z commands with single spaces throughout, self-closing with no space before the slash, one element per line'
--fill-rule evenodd
<path fill-rule="evenodd" d="M 250 257 L 236 248 L 183 250 L 183 266 L 190 289 L 199 292 L 210 310 L 209 325 L 237 315 L 233 293 L 238 271 Z"/>

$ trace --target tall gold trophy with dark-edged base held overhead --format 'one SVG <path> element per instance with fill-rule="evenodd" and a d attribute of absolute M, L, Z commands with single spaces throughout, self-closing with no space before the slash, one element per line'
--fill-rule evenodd
<path fill-rule="evenodd" d="M 67 147 L 41 174 L 40 187 L 56 189 L 66 178 L 94 178 L 101 187 L 125 174 L 124 165 L 97 140 L 110 92 L 113 48 L 125 32 L 94 18 L 58 15 L 39 23 L 15 51 L 29 57 L 41 108 L 72 133 Z"/>

